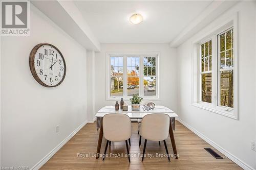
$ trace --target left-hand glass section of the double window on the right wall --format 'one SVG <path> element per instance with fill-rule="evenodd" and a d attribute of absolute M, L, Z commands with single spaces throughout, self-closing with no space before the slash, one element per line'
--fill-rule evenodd
<path fill-rule="evenodd" d="M 211 40 L 201 44 L 201 101 L 211 103 Z"/>

